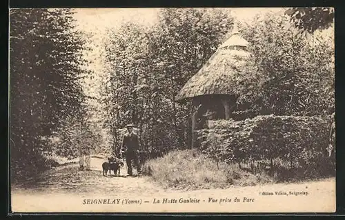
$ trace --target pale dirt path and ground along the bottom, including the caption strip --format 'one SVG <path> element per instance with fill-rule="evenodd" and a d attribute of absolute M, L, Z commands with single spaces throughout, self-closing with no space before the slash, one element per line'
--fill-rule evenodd
<path fill-rule="evenodd" d="M 49 170 L 26 188 L 12 187 L 12 210 L 17 212 L 333 212 L 335 179 L 213 190 L 164 190 L 148 177 L 103 177 L 102 159 L 92 158 L 91 171 L 77 164 Z M 126 168 L 121 170 L 126 174 Z M 274 195 L 262 195 L 273 192 Z M 275 192 L 305 194 L 275 195 Z M 308 194 L 306 194 L 308 193 Z M 240 199 L 235 203 L 234 199 Z M 244 197 L 253 199 L 244 202 Z M 209 201 L 209 198 L 211 201 Z M 89 199 L 89 200 L 87 200 Z M 88 204 L 106 199 L 111 204 Z M 109 201 L 108 201 L 109 199 Z M 119 199 L 119 204 L 115 204 Z M 126 203 L 126 199 L 137 203 Z M 160 203 L 154 203 L 154 199 Z M 162 203 L 163 199 L 176 203 Z M 172 200 L 171 200 L 172 199 Z M 182 199 L 179 201 L 179 199 Z M 192 199 L 199 202 L 184 203 Z M 217 199 L 217 201 L 215 201 Z M 221 202 L 224 201 L 230 202 Z M 115 201 L 115 202 L 113 202 Z M 147 202 L 145 202 L 147 201 Z"/>

